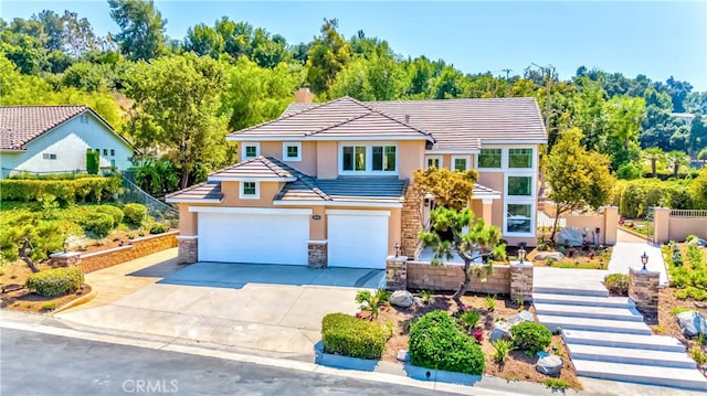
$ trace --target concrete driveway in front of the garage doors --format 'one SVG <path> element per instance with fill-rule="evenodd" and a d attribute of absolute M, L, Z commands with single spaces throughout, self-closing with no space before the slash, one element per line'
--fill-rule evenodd
<path fill-rule="evenodd" d="M 370 269 L 198 263 L 110 303 L 56 318 L 309 358 L 320 340 L 321 318 L 356 312 L 357 290 L 379 288 L 384 276 L 383 270 Z"/>

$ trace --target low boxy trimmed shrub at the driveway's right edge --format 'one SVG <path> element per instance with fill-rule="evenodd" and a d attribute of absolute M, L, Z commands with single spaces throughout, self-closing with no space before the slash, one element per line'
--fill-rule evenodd
<path fill-rule="evenodd" d="M 387 339 L 386 331 L 377 323 L 345 313 L 329 313 L 321 320 L 321 342 L 326 353 L 380 358 Z"/>

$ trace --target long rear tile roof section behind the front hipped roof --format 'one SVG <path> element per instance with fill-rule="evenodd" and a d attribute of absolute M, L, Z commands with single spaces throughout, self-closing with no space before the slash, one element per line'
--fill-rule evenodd
<path fill-rule="evenodd" d="M 362 105 L 398 120 L 408 119 L 408 125 L 431 133 L 436 140 L 432 150 L 475 150 L 483 143 L 547 141 L 540 109 L 530 97 L 367 101 Z M 317 105 L 292 104 L 282 117 L 293 117 L 313 106 Z"/>

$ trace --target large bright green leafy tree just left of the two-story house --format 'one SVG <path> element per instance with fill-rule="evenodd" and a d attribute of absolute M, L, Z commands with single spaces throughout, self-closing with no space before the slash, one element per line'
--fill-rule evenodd
<path fill-rule="evenodd" d="M 127 129 L 144 149 L 169 150 L 180 185 L 224 161 L 225 119 L 218 116 L 225 79 L 221 65 L 193 53 L 140 63 L 126 94 L 135 100 Z"/>

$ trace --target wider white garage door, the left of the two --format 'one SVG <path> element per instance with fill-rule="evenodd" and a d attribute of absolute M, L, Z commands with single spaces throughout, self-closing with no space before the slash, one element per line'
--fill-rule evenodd
<path fill-rule="evenodd" d="M 309 215 L 199 213 L 199 260 L 307 265 Z"/>

